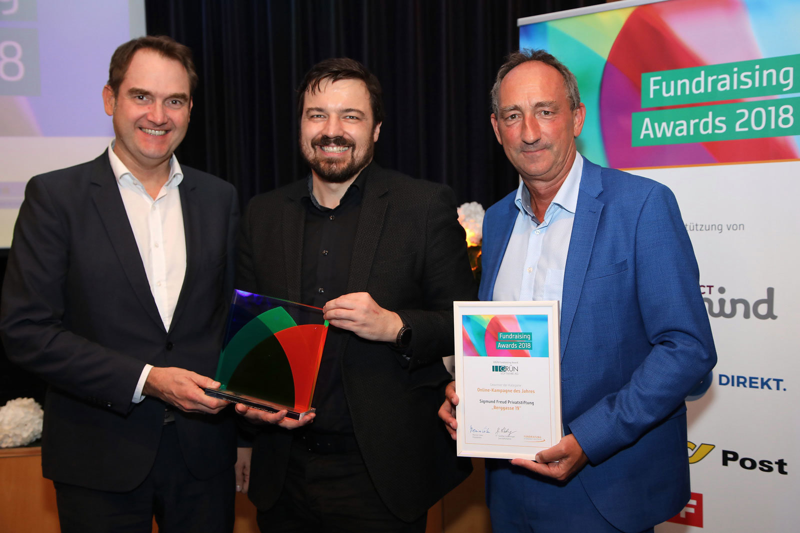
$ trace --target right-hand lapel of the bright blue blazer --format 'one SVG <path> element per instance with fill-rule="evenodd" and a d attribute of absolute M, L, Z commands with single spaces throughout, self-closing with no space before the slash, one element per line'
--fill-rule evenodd
<path fill-rule="evenodd" d="M 581 299 L 586 269 L 589 267 L 594 238 L 597 234 L 603 202 L 598 200 L 602 192 L 601 167 L 583 159 L 583 173 L 578 192 L 578 205 L 575 208 L 575 219 L 570 236 L 570 249 L 566 255 L 564 269 L 564 287 L 562 291 L 561 309 L 561 357 L 566 352 L 566 344 L 570 339 L 575 310 Z"/>

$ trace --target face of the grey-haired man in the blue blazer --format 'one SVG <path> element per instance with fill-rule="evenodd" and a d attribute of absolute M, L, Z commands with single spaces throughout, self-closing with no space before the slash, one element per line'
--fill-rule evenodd
<path fill-rule="evenodd" d="M 494 134 L 522 179 L 565 178 L 586 108 L 580 104 L 570 110 L 561 73 L 538 61 L 514 67 L 500 84 L 498 110 L 491 116 Z"/>

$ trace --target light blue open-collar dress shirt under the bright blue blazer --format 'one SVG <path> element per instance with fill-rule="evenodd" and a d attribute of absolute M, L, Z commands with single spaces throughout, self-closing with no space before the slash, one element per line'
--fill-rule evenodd
<path fill-rule="evenodd" d="M 519 213 L 494 283 L 495 301 L 561 302 L 566 252 L 570 249 L 582 171 L 583 158 L 576 153 L 570 173 L 547 206 L 542 222 L 530 208 L 530 192 L 525 182 L 519 183 L 514 198 Z"/>

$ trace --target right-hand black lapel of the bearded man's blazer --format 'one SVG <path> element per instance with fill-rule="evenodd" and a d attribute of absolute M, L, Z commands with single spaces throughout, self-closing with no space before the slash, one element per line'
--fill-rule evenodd
<path fill-rule="evenodd" d="M 364 169 L 366 180 L 358 215 L 358 228 L 353 241 L 353 258 L 350 260 L 350 275 L 347 292 L 366 291 L 370 279 L 370 266 L 378 249 L 383 231 L 386 206 L 389 204 L 389 185 L 381 168 L 375 163 Z"/>

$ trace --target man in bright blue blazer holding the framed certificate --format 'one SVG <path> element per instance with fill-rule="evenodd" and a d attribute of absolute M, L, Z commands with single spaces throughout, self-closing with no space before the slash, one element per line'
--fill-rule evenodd
<path fill-rule="evenodd" d="M 536 461 L 487 460 L 494 531 L 652 531 L 689 500 L 684 398 L 716 362 L 678 205 L 578 154 L 586 109 L 552 55 L 511 54 L 492 96 L 522 183 L 486 212 L 480 299 L 561 301 L 565 435 Z M 455 403 L 450 387 L 451 435 Z"/>

